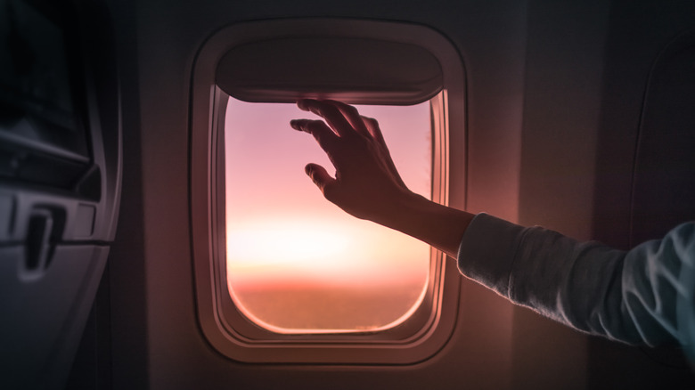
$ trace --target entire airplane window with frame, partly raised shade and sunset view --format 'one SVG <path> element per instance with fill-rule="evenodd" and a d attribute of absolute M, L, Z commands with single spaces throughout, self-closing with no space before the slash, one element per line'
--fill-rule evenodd
<path fill-rule="evenodd" d="M 333 50 L 307 70 L 288 49 L 298 46 Z M 364 53 L 388 61 L 364 66 Z M 239 362 L 327 364 L 410 364 L 446 345 L 462 294 L 455 262 L 323 199 L 304 167 L 331 172 L 331 163 L 290 120 L 317 118 L 298 110 L 298 96 L 361 104 L 408 187 L 462 207 L 462 69 L 446 37 L 396 22 L 264 20 L 206 41 L 193 68 L 190 195 L 196 307 L 210 345 Z"/>

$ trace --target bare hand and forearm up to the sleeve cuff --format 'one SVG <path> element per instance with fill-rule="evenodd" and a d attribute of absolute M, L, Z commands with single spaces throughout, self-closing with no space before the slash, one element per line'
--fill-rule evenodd
<path fill-rule="evenodd" d="M 379 124 L 354 107 L 334 101 L 301 100 L 299 109 L 323 120 L 296 119 L 290 126 L 314 135 L 335 167 L 305 170 L 323 196 L 358 218 L 380 223 L 455 257 L 473 215 L 439 205 L 408 190 L 393 164 Z"/>

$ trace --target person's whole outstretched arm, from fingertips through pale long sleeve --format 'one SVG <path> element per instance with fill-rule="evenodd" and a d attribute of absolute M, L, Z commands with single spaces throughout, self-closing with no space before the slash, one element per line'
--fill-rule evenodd
<path fill-rule="evenodd" d="M 325 119 L 291 126 L 336 169 L 308 164 L 307 175 L 347 213 L 458 254 L 470 279 L 570 327 L 634 344 L 678 340 L 695 357 L 695 224 L 624 252 L 444 207 L 407 189 L 374 119 L 340 102 L 298 106 Z"/>

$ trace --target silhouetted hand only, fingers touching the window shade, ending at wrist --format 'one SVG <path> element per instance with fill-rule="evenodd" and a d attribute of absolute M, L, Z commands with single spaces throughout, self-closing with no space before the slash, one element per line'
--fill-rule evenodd
<path fill-rule="evenodd" d="M 323 118 L 290 122 L 312 134 L 335 167 L 335 178 L 317 164 L 305 167 L 323 196 L 350 215 L 390 224 L 399 199 L 413 193 L 398 175 L 377 121 L 342 102 L 305 99 L 297 105 Z"/>

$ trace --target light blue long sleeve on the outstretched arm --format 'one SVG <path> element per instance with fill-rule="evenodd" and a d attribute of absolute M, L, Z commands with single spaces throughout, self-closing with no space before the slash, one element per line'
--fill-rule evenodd
<path fill-rule="evenodd" d="M 695 359 L 695 223 L 626 252 L 480 214 L 458 266 L 572 328 L 630 344 L 677 342 Z"/>

